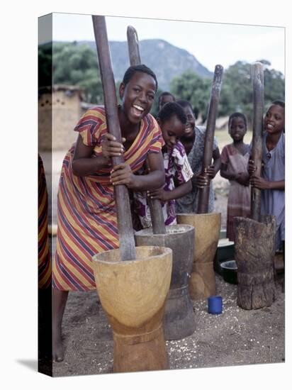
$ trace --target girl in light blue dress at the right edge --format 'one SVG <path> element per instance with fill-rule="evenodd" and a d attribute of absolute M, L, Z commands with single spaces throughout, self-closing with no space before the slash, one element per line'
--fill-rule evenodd
<path fill-rule="evenodd" d="M 250 184 L 261 189 L 261 214 L 276 217 L 276 250 L 285 243 L 285 103 L 273 101 L 264 117 L 262 174 L 254 174 L 249 160 Z"/>

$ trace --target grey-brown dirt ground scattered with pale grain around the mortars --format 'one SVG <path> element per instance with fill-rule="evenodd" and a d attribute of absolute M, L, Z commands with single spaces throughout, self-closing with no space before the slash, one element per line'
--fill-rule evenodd
<path fill-rule="evenodd" d="M 222 213 L 225 228 L 228 186 L 219 181 L 214 183 L 215 211 Z M 52 244 L 55 246 L 55 239 Z M 284 362 L 282 282 L 283 274 L 279 274 L 276 301 L 269 308 L 245 311 L 237 306 L 237 285 L 226 283 L 216 274 L 223 313 L 209 314 L 207 300 L 192 301 L 196 330 L 188 338 L 166 342 L 170 369 Z M 112 372 L 111 327 L 95 291 L 69 294 L 63 339 L 64 361 L 53 364 L 54 377 Z"/>

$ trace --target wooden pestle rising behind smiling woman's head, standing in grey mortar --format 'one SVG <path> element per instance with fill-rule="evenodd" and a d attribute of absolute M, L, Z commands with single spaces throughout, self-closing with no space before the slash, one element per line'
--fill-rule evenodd
<path fill-rule="evenodd" d="M 128 26 L 127 38 L 128 38 L 128 51 L 129 51 L 130 65 L 139 65 L 141 64 L 139 40 L 138 40 L 137 31 L 133 26 Z M 147 168 L 149 168 L 148 163 L 147 163 Z M 167 230 L 165 228 L 162 206 L 159 199 L 148 198 L 148 204 L 150 208 L 153 233 L 166 234 Z"/>

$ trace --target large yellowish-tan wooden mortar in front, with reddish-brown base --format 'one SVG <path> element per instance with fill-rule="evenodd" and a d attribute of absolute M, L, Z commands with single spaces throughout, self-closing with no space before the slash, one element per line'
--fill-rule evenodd
<path fill-rule="evenodd" d="M 120 251 L 93 257 L 96 288 L 113 328 L 113 372 L 169 369 L 162 317 L 172 275 L 172 250 L 137 247 L 136 260 Z"/>

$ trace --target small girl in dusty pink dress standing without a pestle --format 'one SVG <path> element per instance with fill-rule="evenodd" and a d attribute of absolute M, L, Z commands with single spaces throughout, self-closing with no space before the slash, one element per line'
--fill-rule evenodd
<path fill-rule="evenodd" d="M 233 218 L 250 214 L 249 145 L 243 142 L 247 132 L 247 119 L 242 113 L 232 113 L 228 121 L 228 133 L 233 142 L 223 147 L 220 174 L 230 181 L 227 206 L 226 237 L 234 241 Z"/>

